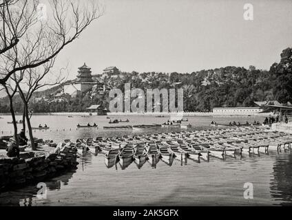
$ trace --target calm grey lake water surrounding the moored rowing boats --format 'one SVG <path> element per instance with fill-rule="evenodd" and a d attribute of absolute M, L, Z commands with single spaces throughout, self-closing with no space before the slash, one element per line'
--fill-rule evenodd
<path fill-rule="evenodd" d="M 10 116 L 0 120 L 4 134 L 12 131 L 7 124 Z M 162 123 L 167 118 L 124 117 L 130 124 Z M 21 119 L 19 117 L 19 119 Z M 253 122 L 263 118 L 189 117 L 197 129 L 216 122 Z M 48 124 L 50 130 L 34 135 L 56 142 L 79 137 L 121 136 L 138 134 L 136 131 L 108 131 L 105 116 L 67 118 L 67 116 L 36 115 L 32 125 Z M 76 129 L 76 124 L 96 122 L 99 129 Z M 119 124 L 121 125 L 121 124 Z M 71 129 L 71 131 L 70 131 Z M 165 131 L 165 130 L 163 130 Z M 0 131 L 1 132 L 1 131 Z M 141 133 L 141 131 L 140 131 Z M 143 132 L 145 133 L 145 131 Z M 148 132 L 149 133 L 149 132 Z M 120 164 L 105 166 L 103 155 L 87 153 L 79 158 L 78 169 L 45 181 L 47 199 L 38 199 L 36 186 L 0 194 L 0 205 L 8 206 L 291 206 L 292 154 L 271 152 L 242 158 L 227 157 L 226 161 L 211 157 L 209 162 L 179 161 L 169 166 L 159 161 L 155 168 L 148 162 L 141 168 L 133 162 L 124 170 Z M 253 199 L 244 199 L 244 183 L 253 184 Z"/>

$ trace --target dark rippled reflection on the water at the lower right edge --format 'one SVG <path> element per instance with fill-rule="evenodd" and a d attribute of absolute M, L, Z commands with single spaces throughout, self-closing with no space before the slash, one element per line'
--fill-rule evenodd
<path fill-rule="evenodd" d="M 292 206 L 292 154 L 278 155 L 273 165 L 271 197 L 282 206 Z"/>

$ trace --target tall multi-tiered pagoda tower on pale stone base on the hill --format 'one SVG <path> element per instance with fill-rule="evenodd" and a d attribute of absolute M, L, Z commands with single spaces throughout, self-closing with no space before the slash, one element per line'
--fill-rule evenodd
<path fill-rule="evenodd" d="M 64 85 L 64 94 L 69 94 L 72 97 L 76 97 L 77 94 L 83 93 L 92 89 L 96 85 L 96 82 L 92 79 L 91 68 L 87 67 L 84 63 L 82 67 L 79 67 L 76 80 Z"/>

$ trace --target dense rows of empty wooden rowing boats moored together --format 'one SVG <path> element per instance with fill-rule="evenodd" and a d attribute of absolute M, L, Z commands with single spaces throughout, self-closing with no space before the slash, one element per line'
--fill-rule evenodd
<path fill-rule="evenodd" d="M 79 139 L 73 145 L 79 153 L 103 153 L 105 164 L 119 163 L 126 168 L 132 162 L 138 167 L 146 162 L 152 166 L 162 160 L 168 165 L 174 159 L 196 162 L 210 157 L 242 157 L 269 151 L 291 150 L 292 135 L 261 128 L 240 127 L 204 131 L 153 133 L 129 137 L 96 137 Z"/>

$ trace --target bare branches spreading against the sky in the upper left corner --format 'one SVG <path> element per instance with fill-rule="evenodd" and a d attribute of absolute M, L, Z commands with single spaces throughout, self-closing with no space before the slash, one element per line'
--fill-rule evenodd
<path fill-rule="evenodd" d="M 15 50 L 3 53 L 6 56 L 3 56 L 5 58 L 0 61 L 0 66 L 6 65 L 9 70 L 2 73 L 1 85 L 5 84 L 15 72 L 50 62 L 65 46 L 78 39 L 92 21 L 103 14 L 100 5 L 94 0 L 47 0 L 45 2 L 50 5 L 48 7 L 50 10 L 47 12 L 50 19 L 40 17 L 38 0 L 18 0 L 14 5 L 4 4 L 6 10 L 1 12 L 0 17 L 3 22 L 9 22 L 5 22 L 6 25 L 3 26 L 1 39 L 7 39 L 7 30 L 12 32 L 10 40 L 18 39 L 18 53 L 15 53 Z M 19 19 L 13 19 L 15 17 L 21 17 L 20 21 L 25 23 L 24 30 L 21 29 L 23 31 L 20 38 L 17 38 L 19 35 L 17 33 L 19 32 L 18 23 L 21 22 Z M 5 45 L 6 41 L 2 44 Z M 17 65 L 14 66 L 14 63 Z"/>

